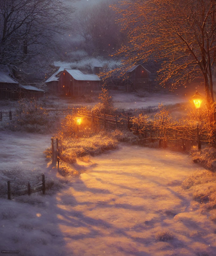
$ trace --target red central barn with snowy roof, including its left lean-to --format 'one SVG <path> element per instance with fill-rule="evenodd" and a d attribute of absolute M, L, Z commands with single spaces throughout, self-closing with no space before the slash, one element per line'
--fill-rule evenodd
<path fill-rule="evenodd" d="M 100 78 L 96 74 L 83 74 L 78 69 L 59 68 L 46 84 L 54 93 L 67 96 L 91 95 L 93 91 L 100 89 Z"/>

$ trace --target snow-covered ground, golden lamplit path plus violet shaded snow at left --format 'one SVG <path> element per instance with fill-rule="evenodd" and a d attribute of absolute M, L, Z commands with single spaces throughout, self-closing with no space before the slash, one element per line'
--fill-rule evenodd
<path fill-rule="evenodd" d="M 0 157 L 5 168 L 17 165 L 18 157 L 28 168 L 36 160 L 46 168 L 42 151 L 50 136 L 32 136 L 1 132 L 3 146 L 8 141 Z M 23 256 L 215 255 L 215 224 L 180 186 L 201 169 L 188 155 L 123 143 L 90 160 L 75 165 L 82 170 L 79 178 L 68 178 L 55 195 L 37 196 L 34 205 L 0 199 L 0 250 L 20 250 Z M 156 242 L 163 230 L 174 239 Z"/>

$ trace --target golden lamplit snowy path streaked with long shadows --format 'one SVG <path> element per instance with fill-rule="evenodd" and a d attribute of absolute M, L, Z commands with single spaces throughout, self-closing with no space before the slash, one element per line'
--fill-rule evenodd
<path fill-rule="evenodd" d="M 215 253 L 214 224 L 197 215 L 198 205 L 190 205 L 191 194 L 179 186 L 199 168 L 191 158 L 123 144 L 91 160 L 97 166 L 56 198 L 67 251 L 77 256 Z M 155 234 L 163 230 L 175 239 L 156 242 Z"/>

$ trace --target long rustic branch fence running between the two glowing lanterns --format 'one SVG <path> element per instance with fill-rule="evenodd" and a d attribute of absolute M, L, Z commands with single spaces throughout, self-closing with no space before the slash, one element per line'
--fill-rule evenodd
<path fill-rule="evenodd" d="M 180 145 L 183 150 L 187 150 L 193 142 L 198 145 L 198 150 L 201 149 L 201 142 L 211 142 L 209 134 L 204 129 L 200 129 L 197 126 L 178 126 L 166 124 L 155 124 L 156 122 L 140 122 L 137 118 L 125 116 L 123 114 L 108 115 L 101 113 L 94 113 L 94 111 L 88 111 L 85 108 L 73 109 L 74 115 L 91 119 L 92 124 L 99 124 L 104 128 L 110 127 L 113 129 L 123 128 L 133 131 L 134 134 L 141 134 L 144 140 L 158 140 L 158 146 L 161 146 L 161 142 L 164 142 L 166 147 L 167 142 L 175 143 L 176 146 Z"/>

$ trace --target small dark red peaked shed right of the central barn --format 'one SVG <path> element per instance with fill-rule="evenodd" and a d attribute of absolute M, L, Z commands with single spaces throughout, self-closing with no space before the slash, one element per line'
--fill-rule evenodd
<path fill-rule="evenodd" d="M 132 90 L 144 89 L 151 91 L 151 72 L 145 69 L 142 65 L 135 65 L 126 71 L 129 79 L 132 81 Z"/>

